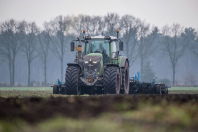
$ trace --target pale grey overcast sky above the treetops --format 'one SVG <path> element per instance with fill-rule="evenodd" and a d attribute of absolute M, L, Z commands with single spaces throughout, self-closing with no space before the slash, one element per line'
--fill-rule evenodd
<path fill-rule="evenodd" d="M 58 15 L 131 14 L 159 28 L 179 23 L 198 28 L 198 0 L 0 0 L 0 22 L 35 21 L 42 26 Z"/>

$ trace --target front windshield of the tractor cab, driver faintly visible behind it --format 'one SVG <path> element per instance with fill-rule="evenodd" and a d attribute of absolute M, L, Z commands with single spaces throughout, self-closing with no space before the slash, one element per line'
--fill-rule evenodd
<path fill-rule="evenodd" d="M 105 53 L 109 56 L 109 43 L 107 40 L 88 40 L 86 43 L 86 54 Z"/>

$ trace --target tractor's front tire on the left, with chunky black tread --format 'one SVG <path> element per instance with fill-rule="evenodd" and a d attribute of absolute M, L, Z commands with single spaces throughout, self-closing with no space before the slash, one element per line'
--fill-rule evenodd
<path fill-rule="evenodd" d="M 65 86 L 67 95 L 80 95 L 81 90 L 78 89 L 79 68 L 68 66 L 65 75 Z"/>

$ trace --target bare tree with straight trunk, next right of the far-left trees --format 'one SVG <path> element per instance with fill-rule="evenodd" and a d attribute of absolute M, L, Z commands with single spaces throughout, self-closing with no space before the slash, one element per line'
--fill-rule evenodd
<path fill-rule="evenodd" d="M 22 43 L 21 51 L 25 53 L 28 61 L 28 86 L 30 86 L 31 63 L 38 57 L 36 50 L 39 29 L 35 22 L 27 23 L 26 21 L 23 21 L 20 23 L 20 30 L 20 41 Z"/>

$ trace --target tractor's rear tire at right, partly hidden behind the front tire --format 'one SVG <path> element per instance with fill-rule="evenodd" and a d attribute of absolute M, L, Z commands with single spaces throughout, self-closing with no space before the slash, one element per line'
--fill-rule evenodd
<path fill-rule="evenodd" d="M 122 71 L 122 85 L 121 85 L 121 93 L 129 94 L 129 65 L 126 61 L 125 67 L 121 69 Z"/>

